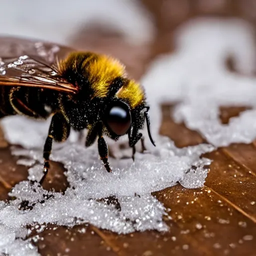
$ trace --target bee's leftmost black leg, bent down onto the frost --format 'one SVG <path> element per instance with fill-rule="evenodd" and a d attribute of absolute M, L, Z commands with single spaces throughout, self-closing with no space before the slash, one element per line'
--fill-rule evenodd
<path fill-rule="evenodd" d="M 42 184 L 44 181 L 49 165 L 49 156 L 51 153 L 52 141 L 53 139 L 57 142 L 65 141 L 70 133 L 70 126 L 67 123 L 66 119 L 61 113 L 55 113 L 50 122 L 50 127 L 48 131 L 48 136 L 45 140 L 44 147 L 43 147 L 43 176 L 41 177 L 39 183 Z"/>

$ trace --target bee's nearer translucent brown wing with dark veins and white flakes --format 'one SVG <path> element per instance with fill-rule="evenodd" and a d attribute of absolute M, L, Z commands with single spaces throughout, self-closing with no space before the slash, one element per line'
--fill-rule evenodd
<path fill-rule="evenodd" d="M 77 88 L 61 78 L 57 69 L 38 56 L 0 57 L 0 86 L 28 86 L 76 93 Z"/>

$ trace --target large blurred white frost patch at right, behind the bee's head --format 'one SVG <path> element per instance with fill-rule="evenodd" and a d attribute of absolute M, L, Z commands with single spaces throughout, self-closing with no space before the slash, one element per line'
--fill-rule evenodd
<path fill-rule="evenodd" d="M 256 49 L 251 27 L 237 19 L 197 18 L 176 33 L 177 50 L 155 60 L 142 79 L 148 91 L 157 134 L 159 102 L 179 102 L 173 116 L 199 131 L 214 146 L 249 143 L 256 137 Z M 228 56 L 242 74 L 227 70 Z M 155 86 L 157 85 L 157 94 Z M 169 92 L 169 93 L 168 93 Z M 219 106 L 249 106 L 230 119 L 219 120 Z"/>

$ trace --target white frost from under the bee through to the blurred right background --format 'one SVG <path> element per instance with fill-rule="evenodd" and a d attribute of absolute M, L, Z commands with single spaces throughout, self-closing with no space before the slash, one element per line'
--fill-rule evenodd
<path fill-rule="evenodd" d="M 256 109 L 244 111 L 227 125 L 218 119 L 220 105 L 242 104 L 255 108 L 254 78 L 231 73 L 224 66 L 225 56 L 231 52 L 239 60 L 238 70 L 253 71 L 256 58 L 249 28 L 237 20 L 199 20 L 181 27 L 177 42 L 177 52 L 156 60 L 142 80 L 150 102 L 157 147 L 149 145 L 145 134 L 149 152 L 137 152 L 134 162 L 120 158 L 119 152 L 120 159 L 109 158 L 113 171 L 107 173 L 98 159 L 96 144 L 85 148 L 76 141 L 74 132 L 65 143 L 54 143 L 50 158 L 63 163 L 69 186 L 62 194 L 46 191 L 36 182 L 16 184 L 10 192 L 15 199 L 0 202 L 0 235 L 4 234 L 0 252 L 15 254 L 19 245 L 25 255 L 36 255 L 36 248 L 31 247 L 24 235 L 29 234 L 26 226 L 35 223 L 41 231 L 47 223 L 65 226 L 91 223 L 117 233 L 166 231 L 168 227 L 162 216 L 167 213 L 151 192 L 176 183 L 188 188 L 201 187 L 208 171 L 205 166 L 210 163 L 201 154 L 212 151 L 214 146 L 250 142 L 254 138 L 256 118 L 252 117 L 256 117 Z M 162 101 L 179 102 L 174 110 L 175 119 L 201 132 L 214 146 L 177 148 L 173 141 L 159 136 Z M 36 122 L 12 116 L 3 119 L 2 125 L 8 141 L 23 146 L 23 149 L 13 146 L 12 154 L 22 157 L 18 163 L 31 166 L 28 178 L 38 180 L 49 120 Z M 115 149 L 120 143 L 107 142 Z M 131 151 L 127 149 L 124 153 L 128 155 Z M 20 202 L 27 210 L 18 209 Z M 205 216 L 205 219 L 211 218 Z M 196 228 L 201 228 L 197 225 Z M 186 244 L 183 246 L 187 249 Z"/>

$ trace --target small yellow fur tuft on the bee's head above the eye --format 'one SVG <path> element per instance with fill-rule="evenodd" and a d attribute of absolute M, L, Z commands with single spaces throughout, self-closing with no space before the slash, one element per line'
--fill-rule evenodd
<path fill-rule="evenodd" d="M 140 85 L 134 80 L 130 80 L 127 84 L 122 86 L 117 91 L 116 96 L 128 101 L 131 108 L 136 107 L 144 100 L 144 92 Z"/>

